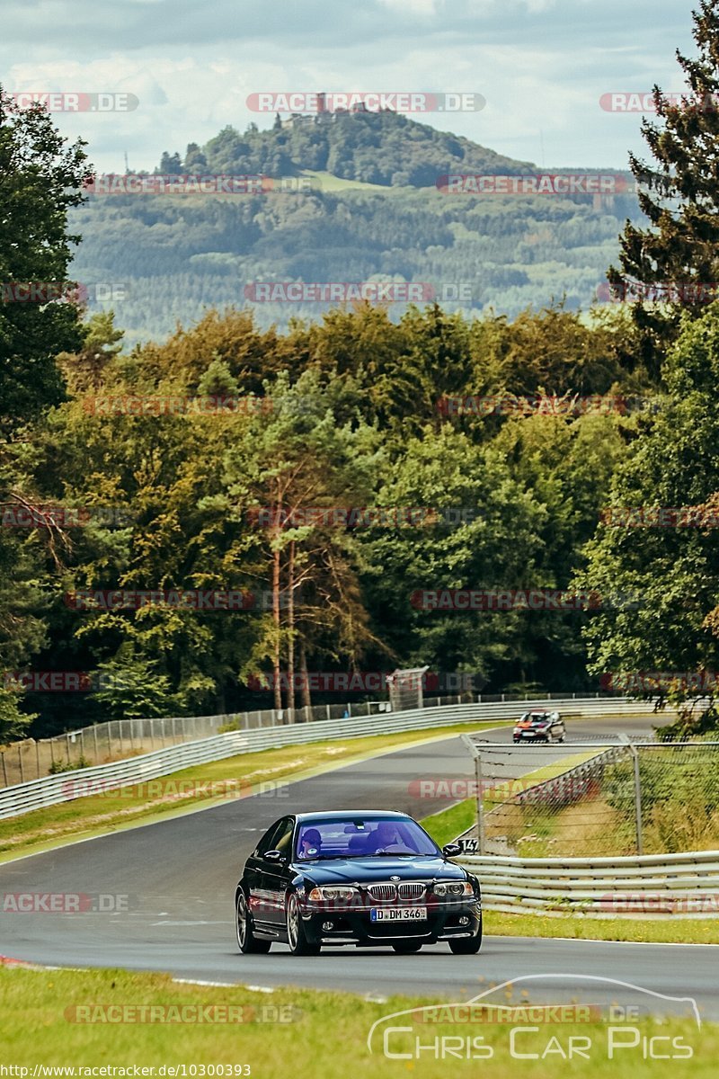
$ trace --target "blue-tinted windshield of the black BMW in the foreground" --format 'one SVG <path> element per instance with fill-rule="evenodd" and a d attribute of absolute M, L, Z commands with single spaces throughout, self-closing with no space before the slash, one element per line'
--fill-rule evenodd
<path fill-rule="evenodd" d="M 313 821 L 298 830 L 295 857 L 302 860 L 363 858 L 368 855 L 432 856 L 439 848 L 409 817 Z"/>

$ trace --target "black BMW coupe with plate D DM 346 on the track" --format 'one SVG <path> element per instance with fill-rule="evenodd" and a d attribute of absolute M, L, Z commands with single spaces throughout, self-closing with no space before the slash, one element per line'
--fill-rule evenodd
<path fill-rule="evenodd" d="M 260 839 L 235 891 L 237 944 L 294 955 L 322 944 L 418 952 L 447 941 L 456 955 L 482 944 L 480 884 L 412 817 L 378 810 L 282 817 Z"/>

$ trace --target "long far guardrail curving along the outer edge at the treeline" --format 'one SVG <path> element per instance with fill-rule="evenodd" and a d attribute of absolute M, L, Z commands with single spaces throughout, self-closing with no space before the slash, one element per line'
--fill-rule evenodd
<path fill-rule="evenodd" d="M 45 806 L 70 802 L 77 797 L 73 783 L 92 783 L 98 787 L 126 787 L 160 776 L 181 771 L 196 764 L 221 761 L 238 753 L 252 753 L 280 746 L 294 746 L 313 741 L 361 738 L 365 735 L 392 734 L 402 730 L 426 730 L 431 727 L 458 723 L 487 723 L 513 719 L 537 701 L 507 701 L 498 704 L 451 705 L 441 708 L 413 709 L 389 712 L 376 716 L 357 716 L 347 720 L 317 720 L 312 723 L 293 723 L 284 726 L 262 727 L 257 730 L 230 730 L 213 738 L 184 742 L 167 749 L 143 753 L 141 756 L 101 764 L 92 768 L 45 776 L 27 783 L 17 783 L 0 790 L 0 819 L 15 817 Z M 566 706 L 566 710 L 565 710 Z M 552 699 L 552 707 L 568 716 L 582 715 L 645 715 L 650 709 L 641 701 L 623 698 L 590 698 L 578 700 Z"/>

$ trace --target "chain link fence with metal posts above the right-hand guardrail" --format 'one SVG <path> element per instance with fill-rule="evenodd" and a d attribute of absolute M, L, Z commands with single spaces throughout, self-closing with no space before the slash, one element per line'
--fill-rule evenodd
<path fill-rule="evenodd" d="M 719 741 L 626 735 L 556 746 L 465 737 L 478 824 L 467 852 L 589 858 L 719 849 Z"/>

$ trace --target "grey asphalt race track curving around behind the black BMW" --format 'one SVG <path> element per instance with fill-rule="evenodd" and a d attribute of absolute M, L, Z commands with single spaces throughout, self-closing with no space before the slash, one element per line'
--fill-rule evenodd
<path fill-rule="evenodd" d="M 549 751 L 513 754 L 521 775 L 572 752 L 571 739 L 649 733 L 650 720 L 568 723 L 568 741 Z M 511 741 L 509 729 L 482 733 Z M 301 755 L 301 747 L 298 749 Z M 575 749 L 573 752 L 577 752 Z M 126 910 L 53 914 L 0 913 L 0 953 L 57 966 L 127 967 L 170 971 L 212 982 L 296 984 L 384 997 L 423 994 L 428 1001 L 476 996 L 490 984 L 526 975 L 535 1002 L 619 999 L 621 980 L 655 994 L 692 997 L 703 1016 L 719 1019 L 719 946 L 620 944 L 599 941 L 485 937 L 476 956 L 453 956 L 446 944 L 418 955 L 354 947 L 323 950 L 317 958 L 290 956 L 282 944 L 266 956 L 240 956 L 234 930 L 234 887 L 259 835 L 287 811 L 387 808 L 425 817 L 450 803 L 418 798 L 421 778 L 473 776 L 458 737 L 347 765 L 279 791 L 233 798 L 176 817 L 19 859 L 0 866 L 0 891 L 128 897 Z M 507 778 L 504 776 L 503 778 Z M 413 780 L 415 782 L 413 782 Z M 121 900 L 122 902 L 122 900 Z M 559 975 L 550 978 L 549 975 Z M 627 989 L 628 994 L 630 991 Z M 622 996 L 622 1000 L 625 996 Z M 642 998 L 645 1001 L 647 997 Z M 502 997 L 502 1002 L 506 1002 Z M 652 998 L 653 1011 L 687 1013 L 686 1005 Z"/>

